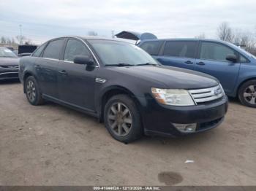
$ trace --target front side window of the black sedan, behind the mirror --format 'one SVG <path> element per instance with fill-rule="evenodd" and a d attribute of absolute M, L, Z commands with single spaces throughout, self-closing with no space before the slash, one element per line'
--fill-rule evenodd
<path fill-rule="evenodd" d="M 90 52 L 82 42 L 76 39 L 69 39 L 64 53 L 64 61 L 73 62 L 77 55 L 89 56 Z"/>

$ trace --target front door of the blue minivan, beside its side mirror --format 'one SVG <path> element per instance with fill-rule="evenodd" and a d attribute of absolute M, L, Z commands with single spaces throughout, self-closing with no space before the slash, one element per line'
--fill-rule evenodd
<path fill-rule="evenodd" d="M 233 92 L 236 85 L 240 62 L 239 59 L 236 63 L 227 61 L 227 55 L 236 55 L 239 58 L 238 52 L 225 44 L 201 41 L 195 70 L 219 79 L 228 94 Z"/>

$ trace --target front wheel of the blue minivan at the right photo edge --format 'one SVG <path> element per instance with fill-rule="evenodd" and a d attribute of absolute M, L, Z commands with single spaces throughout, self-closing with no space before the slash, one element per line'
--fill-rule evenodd
<path fill-rule="evenodd" d="M 245 82 L 238 90 L 238 98 L 241 104 L 256 107 L 256 79 Z"/>

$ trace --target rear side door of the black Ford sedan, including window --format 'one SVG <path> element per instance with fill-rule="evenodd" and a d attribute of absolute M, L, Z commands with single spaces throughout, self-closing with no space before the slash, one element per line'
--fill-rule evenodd
<path fill-rule="evenodd" d="M 44 95 L 58 98 L 57 73 L 64 39 L 53 39 L 48 42 L 42 56 L 35 61 L 35 71 L 40 89 Z"/>

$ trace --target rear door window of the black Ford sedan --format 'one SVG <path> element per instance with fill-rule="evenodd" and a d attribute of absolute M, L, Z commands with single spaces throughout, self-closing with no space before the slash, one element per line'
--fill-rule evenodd
<path fill-rule="evenodd" d="M 64 39 L 54 40 L 45 48 L 43 58 L 59 59 L 59 54 L 62 50 Z"/>

